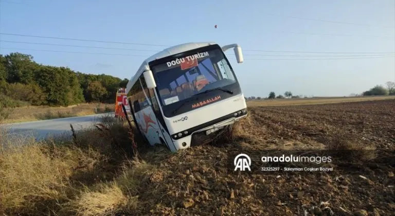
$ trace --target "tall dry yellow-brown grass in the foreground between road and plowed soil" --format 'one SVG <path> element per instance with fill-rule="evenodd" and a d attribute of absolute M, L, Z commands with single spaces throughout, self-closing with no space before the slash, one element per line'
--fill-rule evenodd
<path fill-rule="evenodd" d="M 41 142 L 11 136 L 0 124 L 0 214 L 111 215 L 136 208 L 137 183 L 152 166 L 127 154 L 125 122 L 101 123 L 111 136 L 92 130 Z"/>

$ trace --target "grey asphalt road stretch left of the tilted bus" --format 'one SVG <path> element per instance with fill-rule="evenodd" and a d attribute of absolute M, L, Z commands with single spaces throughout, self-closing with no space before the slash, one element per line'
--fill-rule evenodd
<path fill-rule="evenodd" d="M 9 135 L 33 135 L 38 140 L 45 138 L 48 135 L 71 135 L 70 124 L 73 125 L 73 128 L 76 131 L 94 127 L 94 123 L 98 122 L 101 117 L 106 115 L 114 116 L 114 113 L 11 123 L 6 124 L 5 126 L 10 132 Z"/>

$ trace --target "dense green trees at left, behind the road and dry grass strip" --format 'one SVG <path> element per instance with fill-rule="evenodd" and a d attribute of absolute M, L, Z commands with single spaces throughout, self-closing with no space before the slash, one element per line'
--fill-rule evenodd
<path fill-rule="evenodd" d="M 35 62 L 31 55 L 0 55 L 0 105 L 68 106 L 84 102 L 115 103 L 128 79 L 83 74 L 68 67 Z"/>

